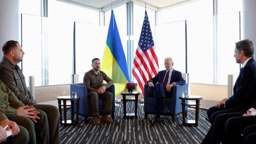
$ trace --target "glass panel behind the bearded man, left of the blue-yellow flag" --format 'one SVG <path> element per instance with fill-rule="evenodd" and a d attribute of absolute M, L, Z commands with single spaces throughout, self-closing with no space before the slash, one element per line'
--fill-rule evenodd
<path fill-rule="evenodd" d="M 76 22 L 76 74 L 83 82 L 85 72 L 92 69 L 92 59 L 102 60 L 108 28 Z"/>

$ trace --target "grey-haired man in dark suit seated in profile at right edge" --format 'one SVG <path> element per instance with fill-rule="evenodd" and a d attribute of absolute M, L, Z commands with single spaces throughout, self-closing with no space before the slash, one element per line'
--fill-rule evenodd
<path fill-rule="evenodd" d="M 234 94 L 230 98 L 224 98 L 220 103 L 207 111 L 212 124 L 206 134 L 203 144 L 225 143 L 225 123 L 229 118 L 237 116 L 248 110 L 256 101 L 256 61 L 254 55 L 254 43 L 249 40 L 241 40 L 236 43 L 234 57 L 236 63 L 242 64 L 240 74 L 234 85 Z"/>

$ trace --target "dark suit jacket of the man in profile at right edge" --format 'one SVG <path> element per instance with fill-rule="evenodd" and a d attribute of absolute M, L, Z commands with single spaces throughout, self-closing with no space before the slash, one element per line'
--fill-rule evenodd
<path fill-rule="evenodd" d="M 256 102 L 256 61 L 251 58 L 240 71 L 234 94 L 226 100 L 226 108 L 241 106 L 248 110 Z"/>

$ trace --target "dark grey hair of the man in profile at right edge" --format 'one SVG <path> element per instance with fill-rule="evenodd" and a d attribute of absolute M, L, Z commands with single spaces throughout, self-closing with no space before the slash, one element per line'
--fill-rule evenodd
<path fill-rule="evenodd" d="M 252 42 L 252 40 L 249 40 L 249 39 L 240 40 L 239 42 L 236 43 L 236 50 L 237 52 L 239 52 L 240 50 L 243 50 L 246 57 L 253 58 L 254 43 Z"/>

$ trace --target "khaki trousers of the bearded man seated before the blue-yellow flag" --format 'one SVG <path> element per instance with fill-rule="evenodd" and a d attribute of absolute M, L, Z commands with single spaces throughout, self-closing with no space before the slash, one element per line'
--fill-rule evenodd
<path fill-rule="evenodd" d="M 104 100 L 104 109 L 103 114 L 107 112 L 112 112 L 112 96 L 111 92 L 104 92 L 103 94 L 98 94 L 97 92 L 88 92 L 88 96 L 90 98 L 91 108 L 92 108 L 92 116 L 99 116 L 99 109 L 98 109 L 98 100 Z"/>

